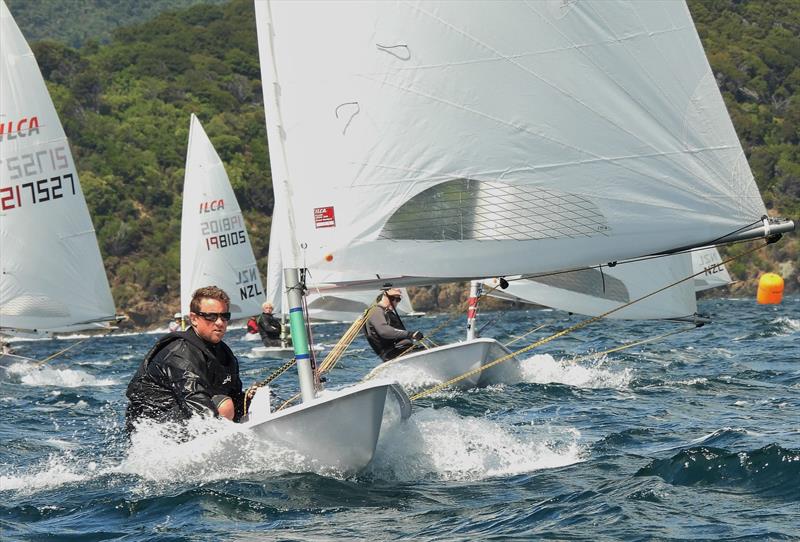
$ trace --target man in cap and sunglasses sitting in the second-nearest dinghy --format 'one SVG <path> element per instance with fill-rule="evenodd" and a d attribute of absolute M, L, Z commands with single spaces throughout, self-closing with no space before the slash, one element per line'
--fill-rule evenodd
<path fill-rule="evenodd" d="M 412 339 L 421 340 L 421 331 L 406 331 L 406 326 L 397 314 L 397 304 L 403 299 L 399 288 L 389 288 L 378 296 L 377 304 L 369 313 L 364 324 L 367 342 L 383 361 L 389 361 L 401 354 L 421 350 Z"/>

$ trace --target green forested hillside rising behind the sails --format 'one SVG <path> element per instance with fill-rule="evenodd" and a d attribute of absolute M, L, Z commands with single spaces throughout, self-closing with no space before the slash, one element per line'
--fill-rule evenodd
<path fill-rule="evenodd" d="M 17 0 L 9 7 L 27 11 L 29 21 L 52 21 L 36 11 L 47 4 Z M 690 2 L 767 206 L 794 218 L 800 215 L 797 8 L 796 0 Z M 81 17 L 60 23 L 83 24 Z M 273 202 L 252 0 L 162 13 L 113 31 L 108 44 L 89 40 L 75 49 L 67 45 L 76 43 L 73 34 L 32 47 L 70 137 L 118 310 L 144 325 L 178 308 L 191 113 L 227 166 L 265 274 Z M 797 248 L 795 234 L 732 271 L 750 279 L 749 287 L 760 270 L 779 271 L 796 290 Z M 419 289 L 417 305 L 447 308 L 462 292 Z"/>

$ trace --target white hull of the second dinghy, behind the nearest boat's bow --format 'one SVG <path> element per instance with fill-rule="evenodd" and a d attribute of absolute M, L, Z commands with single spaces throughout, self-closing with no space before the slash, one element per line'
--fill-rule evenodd
<path fill-rule="evenodd" d="M 414 352 L 379 365 L 367 375 L 398 381 L 405 388 L 418 388 L 446 382 L 511 351 L 494 339 L 481 338 Z M 489 369 L 479 371 L 453 384 L 456 389 L 469 389 L 491 384 L 519 382 L 519 360 L 511 358 Z"/>

